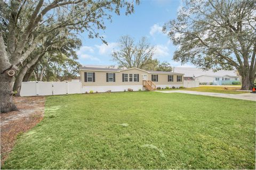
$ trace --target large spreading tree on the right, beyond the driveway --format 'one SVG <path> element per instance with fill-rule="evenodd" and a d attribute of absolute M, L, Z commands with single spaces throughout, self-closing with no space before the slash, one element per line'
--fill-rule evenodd
<path fill-rule="evenodd" d="M 242 89 L 252 88 L 256 62 L 256 1 L 185 1 L 164 32 L 178 46 L 174 60 L 202 69 L 236 69 Z"/>

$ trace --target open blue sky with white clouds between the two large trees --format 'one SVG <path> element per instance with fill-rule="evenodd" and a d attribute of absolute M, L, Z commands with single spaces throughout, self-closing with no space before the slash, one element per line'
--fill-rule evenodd
<path fill-rule="evenodd" d="M 178 8 L 182 5 L 178 0 L 142 0 L 135 6 L 132 15 L 113 15 L 113 22 L 106 21 L 107 29 L 102 32 L 108 46 L 100 39 L 89 39 L 86 33 L 81 38 L 83 46 L 77 51 L 79 62 L 83 65 L 116 65 L 111 58 L 113 49 L 118 48 L 118 40 L 121 36 L 129 35 L 139 41 L 141 37 L 147 37 L 151 45 L 156 47 L 155 58 L 159 61 L 167 61 L 172 66 L 181 66 L 181 63 L 172 60 L 176 49 L 171 40 L 162 33 L 165 22 L 177 16 Z M 189 66 L 185 64 L 182 66 Z"/>

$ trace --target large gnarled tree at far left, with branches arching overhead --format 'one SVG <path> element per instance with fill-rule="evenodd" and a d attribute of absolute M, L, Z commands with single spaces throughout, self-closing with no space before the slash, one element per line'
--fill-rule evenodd
<path fill-rule="evenodd" d="M 134 10 L 124 0 L 0 0 L 0 97 L 1 113 L 15 109 L 12 101 L 14 75 L 42 40 L 55 30 L 86 31 L 89 38 L 102 37 L 111 13 Z"/>

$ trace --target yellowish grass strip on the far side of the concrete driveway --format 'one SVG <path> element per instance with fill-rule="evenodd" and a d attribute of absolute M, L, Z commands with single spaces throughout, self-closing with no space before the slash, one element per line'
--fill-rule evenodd
<path fill-rule="evenodd" d="M 241 89 L 241 87 L 234 86 L 234 87 L 225 87 L 223 86 L 200 86 L 194 88 L 185 88 L 185 89 L 161 89 L 161 90 L 189 90 L 189 91 L 204 91 L 204 92 L 217 92 L 222 94 L 245 94 L 248 91 L 237 91 Z"/>

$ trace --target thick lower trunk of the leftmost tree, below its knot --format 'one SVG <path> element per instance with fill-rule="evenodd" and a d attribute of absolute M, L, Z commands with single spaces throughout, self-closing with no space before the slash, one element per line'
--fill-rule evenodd
<path fill-rule="evenodd" d="M 17 110 L 12 100 L 12 86 L 14 77 L 7 74 L 7 71 L 0 74 L 0 98 L 1 98 L 1 113 L 7 113 Z"/>

